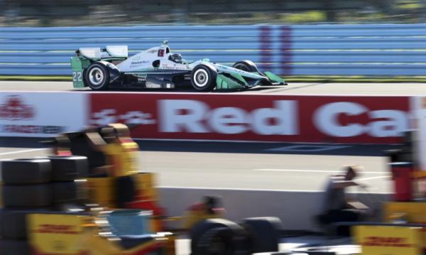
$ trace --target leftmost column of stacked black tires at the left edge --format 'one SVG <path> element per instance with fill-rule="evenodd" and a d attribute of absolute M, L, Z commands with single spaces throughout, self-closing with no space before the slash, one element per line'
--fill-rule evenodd
<path fill-rule="evenodd" d="M 31 254 L 26 215 L 47 211 L 52 205 L 51 163 L 41 158 L 2 161 L 1 177 L 4 208 L 0 214 L 0 254 Z"/>

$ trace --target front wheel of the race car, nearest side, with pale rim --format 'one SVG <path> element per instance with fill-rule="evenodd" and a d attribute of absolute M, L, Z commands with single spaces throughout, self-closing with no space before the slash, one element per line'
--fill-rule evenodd
<path fill-rule="evenodd" d="M 191 85 L 200 92 L 212 91 L 216 87 L 217 70 L 210 65 L 197 65 L 191 72 Z"/>

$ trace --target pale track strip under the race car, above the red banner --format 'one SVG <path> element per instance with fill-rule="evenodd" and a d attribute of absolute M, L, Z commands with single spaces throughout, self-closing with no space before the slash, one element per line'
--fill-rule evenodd
<path fill-rule="evenodd" d="M 72 82 L 0 81 L 0 91 L 71 91 Z M 87 91 L 87 90 L 84 90 Z M 135 90 L 140 91 L 140 90 Z M 147 92 L 192 92 L 190 89 L 145 90 Z M 293 83 L 280 87 L 261 87 L 232 94 L 426 94 L 426 83 Z"/>

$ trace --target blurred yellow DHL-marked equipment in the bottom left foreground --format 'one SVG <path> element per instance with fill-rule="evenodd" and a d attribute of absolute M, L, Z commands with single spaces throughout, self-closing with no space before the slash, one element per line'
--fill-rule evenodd
<path fill-rule="evenodd" d="M 34 254 L 174 255 L 170 232 L 133 239 L 117 238 L 102 229 L 102 219 L 87 215 L 28 215 L 28 234 Z"/>

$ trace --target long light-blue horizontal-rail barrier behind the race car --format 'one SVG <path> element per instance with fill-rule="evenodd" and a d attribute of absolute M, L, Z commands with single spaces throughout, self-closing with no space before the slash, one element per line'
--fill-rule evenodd
<path fill-rule="evenodd" d="M 426 24 L 0 28 L 0 75 L 70 75 L 80 47 L 169 40 L 187 59 L 250 59 L 280 75 L 424 75 Z"/>

